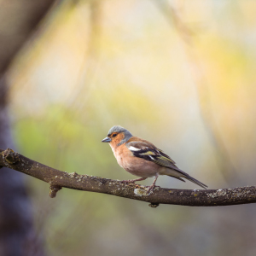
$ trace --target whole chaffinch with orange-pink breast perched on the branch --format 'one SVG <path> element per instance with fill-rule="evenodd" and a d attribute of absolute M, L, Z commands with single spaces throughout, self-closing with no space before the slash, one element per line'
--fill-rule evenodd
<path fill-rule="evenodd" d="M 109 143 L 119 166 L 140 177 L 124 180 L 123 183 L 134 183 L 148 177 L 154 177 L 154 182 L 148 188 L 148 194 L 154 189 L 159 175 L 175 177 L 183 182 L 185 182 L 183 178 L 186 178 L 203 189 L 207 188 L 206 184 L 177 168 L 175 162 L 162 150 L 156 148 L 154 144 L 139 137 L 133 137 L 130 131 L 119 125 L 113 126 L 108 131 L 108 137 L 105 137 L 102 143 Z"/>

